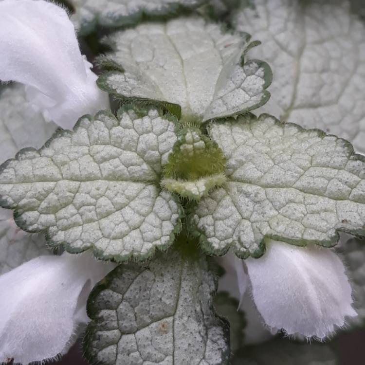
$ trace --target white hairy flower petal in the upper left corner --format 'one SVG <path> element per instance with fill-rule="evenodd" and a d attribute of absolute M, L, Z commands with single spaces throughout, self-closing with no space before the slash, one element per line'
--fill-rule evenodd
<path fill-rule="evenodd" d="M 32 102 L 62 128 L 108 107 L 61 7 L 43 0 L 0 1 L 0 80 L 29 87 Z"/>

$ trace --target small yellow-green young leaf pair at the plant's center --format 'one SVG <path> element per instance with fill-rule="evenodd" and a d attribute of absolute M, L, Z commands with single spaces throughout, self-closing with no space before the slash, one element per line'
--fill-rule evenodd
<path fill-rule="evenodd" d="M 225 159 L 217 143 L 204 136 L 199 128 L 186 126 L 178 132 L 161 184 L 183 197 L 199 200 L 216 185 L 225 182 Z"/>

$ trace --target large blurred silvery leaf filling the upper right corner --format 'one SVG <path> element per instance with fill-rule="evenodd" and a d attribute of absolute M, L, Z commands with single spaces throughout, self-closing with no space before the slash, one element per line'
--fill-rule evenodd
<path fill-rule="evenodd" d="M 261 40 L 249 56 L 273 69 L 272 97 L 260 112 L 323 129 L 365 153 L 365 26 L 349 1 L 249 2 L 241 0 L 233 23 Z"/>

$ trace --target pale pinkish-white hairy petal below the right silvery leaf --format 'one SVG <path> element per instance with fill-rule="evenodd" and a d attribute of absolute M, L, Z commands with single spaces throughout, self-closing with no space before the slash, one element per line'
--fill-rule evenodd
<path fill-rule="evenodd" d="M 344 264 L 330 249 L 271 240 L 266 254 L 246 265 L 256 307 L 271 328 L 323 339 L 357 315 Z"/>

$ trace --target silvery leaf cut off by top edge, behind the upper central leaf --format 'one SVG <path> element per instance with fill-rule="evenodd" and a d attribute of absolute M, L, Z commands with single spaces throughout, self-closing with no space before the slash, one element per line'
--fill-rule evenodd
<path fill-rule="evenodd" d="M 81 35 L 96 26 L 117 28 L 138 23 L 142 18 L 174 16 L 196 8 L 206 0 L 73 0 L 73 23 Z"/>

